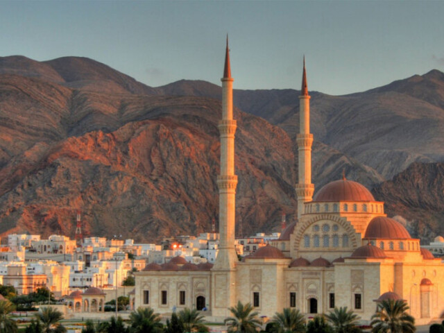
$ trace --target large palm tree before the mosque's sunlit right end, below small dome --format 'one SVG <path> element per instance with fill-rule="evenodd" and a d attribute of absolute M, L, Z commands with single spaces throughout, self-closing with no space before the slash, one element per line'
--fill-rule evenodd
<path fill-rule="evenodd" d="M 413 333 L 416 332 L 415 318 L 407 314 L 409 306 L 404 300 L 383 300 L 372 316 L 372 332 Z"/>

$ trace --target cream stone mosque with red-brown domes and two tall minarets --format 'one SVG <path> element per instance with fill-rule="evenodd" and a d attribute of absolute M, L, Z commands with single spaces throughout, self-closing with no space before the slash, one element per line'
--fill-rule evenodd
<path fill-rule="evenodd" d="M 205 310 L 209 321 L 230 316 L 228 307 L 250 302 L 259 316 L 271 318 L 284 307 L 307 317 L 348 307 L 370 321 L 377 302 L 406 300 L 419 325 L 444 314 L 444 265 L 420 248 L 398 221 L 384 214 L 384 203 L 358 182 L 330 182 L 316 194 L 311 183 L 310 96 L 305 63 L 298 144 L 298 219 L 278 240 L 239 262 L 234 250 L 234 133 L 230 54 L 222 81 L 219 255 L 212 264 L 174 257 L 148 264 L 136 273 L 135 307 L 160 314 L 189 307 Z M 440 282 L 441 281 L 441 282 Z"/>

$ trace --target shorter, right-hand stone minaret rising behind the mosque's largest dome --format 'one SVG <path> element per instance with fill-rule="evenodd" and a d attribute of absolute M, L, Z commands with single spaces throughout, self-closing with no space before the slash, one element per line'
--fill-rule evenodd
<path fill-rule="evenodd" d="M 310 96 L 307 88 L 307 74 L 302 74 L 302 87 L 299 96 L 299 134 L 296 137 L 298 143 L 299 173 L 296 194 L 298 195 L 298 219 L 304 213 L 304 203 L 311 201 L 314 185 L 311 184 L 311 144 L 313 135 L 310 133 Z"/>

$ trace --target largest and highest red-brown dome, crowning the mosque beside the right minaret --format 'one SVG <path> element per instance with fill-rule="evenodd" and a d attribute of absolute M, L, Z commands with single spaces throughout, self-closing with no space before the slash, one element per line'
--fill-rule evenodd
<path fill-rule="evenodd" d="M 324 185 L 314 195 L 313 201 L 375 201 L 375 198 L 359 182 L 341 179 Z"/>

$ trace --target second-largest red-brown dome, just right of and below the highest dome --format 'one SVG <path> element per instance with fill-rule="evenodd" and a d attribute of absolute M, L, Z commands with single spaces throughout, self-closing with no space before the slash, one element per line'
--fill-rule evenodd
<path fill-rule="evenodd" d="M 368 223 L 364 239 L 411 239 L 404 225 L 385 216 L 377 216 Z"/>

